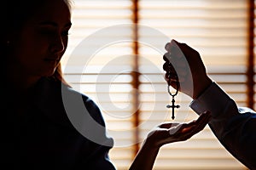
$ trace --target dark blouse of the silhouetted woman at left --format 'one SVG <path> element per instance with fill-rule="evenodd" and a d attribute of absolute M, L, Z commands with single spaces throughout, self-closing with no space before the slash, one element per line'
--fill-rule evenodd
<path fill-rule="evenodd" d="M 40 80 L 22 99 L 10 94 L 3 102 L 2 165 L 8 169 L 115 169 L 108 158 L 113 139 L 107 136 L 101 111 L 90 98 L 49 78 Z M 77 105 L 80 101 L 83 105 Z"/>

